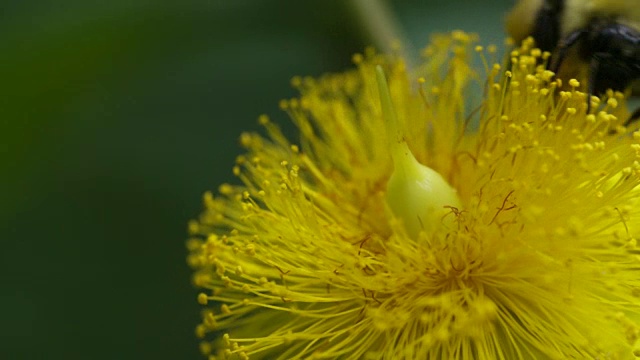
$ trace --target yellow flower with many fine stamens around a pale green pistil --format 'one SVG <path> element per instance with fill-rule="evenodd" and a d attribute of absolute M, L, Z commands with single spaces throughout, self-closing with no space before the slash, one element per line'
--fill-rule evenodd
<path fill-rule="evenodd" d="M 205 354 L 640 355 L 640 132 L 620 125 L 622 96 L 587 115 L 527 41 L 509 71 L 485 65 L 473 110 L 474 51 L 436 37 L 418 75 L 356 55 L 293 80 L 299 143 L 265 116 L 267 137 L 241 136 L 242 185 L 206 193 L 190 224 Z"/>

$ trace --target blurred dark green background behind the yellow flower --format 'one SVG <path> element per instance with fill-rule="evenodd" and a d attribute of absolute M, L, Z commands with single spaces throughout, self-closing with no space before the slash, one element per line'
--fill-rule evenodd
<path fill-rule="evenodd" d="M 372 41 L 352 3 L 0 4 L 1 359 L 201 358 L 186 223 L 292 76 Z M 511 1 L 386 4 L 417 46 L 500 45 Z"/>

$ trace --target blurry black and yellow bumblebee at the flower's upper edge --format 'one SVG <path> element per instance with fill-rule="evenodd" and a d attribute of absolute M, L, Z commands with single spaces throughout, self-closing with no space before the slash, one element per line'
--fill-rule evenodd
<path fill-rule="evenodd" d="M 638 0 L 519 0 L 506 27 L 514 40 L 532 36 L 551 52 L 549 70 L 557 74 L 571 65 L 583 71 L 589 96 L 625 91 L 640 79 Z M 636 119 L 640 109 L 627 123 Z"/>

